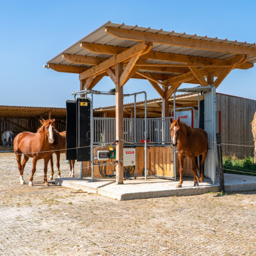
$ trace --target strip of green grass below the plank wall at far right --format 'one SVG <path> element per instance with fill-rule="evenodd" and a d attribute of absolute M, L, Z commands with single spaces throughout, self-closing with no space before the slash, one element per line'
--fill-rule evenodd
<path fill-rule="evenodd" d="M 226 173 L 256 176 L 254 157 L 238 159 L 234 156 L 224 156 L 223 169 Z"/>

